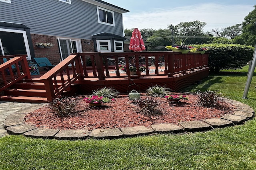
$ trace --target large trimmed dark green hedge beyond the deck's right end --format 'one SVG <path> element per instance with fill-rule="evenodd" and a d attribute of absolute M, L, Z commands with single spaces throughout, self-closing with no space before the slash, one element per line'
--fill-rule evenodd
<path fill-rule="evenodd" d="M 254 47 L 238 44 L 204 44 L 208 48 L 208 65 L 211 72 L 221 69 L 238 69 L 252 60 Z"/>

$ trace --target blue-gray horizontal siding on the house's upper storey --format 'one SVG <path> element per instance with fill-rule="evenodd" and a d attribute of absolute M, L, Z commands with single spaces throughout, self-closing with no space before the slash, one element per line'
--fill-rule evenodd
<path fill-rule="evenodd" d="M 0 2 L 0 21 L 22 23 L 30 33 L 91 39 L 107 32 L 123 36 L 122 14 L 114 12 L 115 26 L 98 23 L 96 5 L 82 0 L 11 0 Z"/>

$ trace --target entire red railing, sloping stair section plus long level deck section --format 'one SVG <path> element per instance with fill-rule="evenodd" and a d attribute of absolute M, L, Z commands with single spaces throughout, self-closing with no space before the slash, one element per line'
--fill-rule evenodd
<path fill-rule="evenodd" d="M 119 65 L 129 66 L 131 60 L 135 60 L 136 75 L 119 70 Z M 89 63 L 89 64 L 88 64 Z M 139 66 L 144 64 L 146 71 L 140 75 Z M 207 67 L 208 54 L 188 53 L 181 54 L 176 52 L 124 52 L 124 53 L 74 53 L 64 61 L 49 70 L 40 79 L 44 80 L 46 96 L 49 102 L 58 97 L 76 80 L 86 78 L 138 78 L 145 76 L 173 77 L 176 74 L 186 74 Z M 88 66 L 89 65 L 89 66 Z M 152 68 L 154 66 L 154 69 Z M 71 73 L 70 73 L 71 70 Z M 67 78 L 64 78 L 63 71 L 66 71 Z M 89 74 L 92 72 L 92 74 Z M 57 80 L 60 76 L 60 80 Z"/>

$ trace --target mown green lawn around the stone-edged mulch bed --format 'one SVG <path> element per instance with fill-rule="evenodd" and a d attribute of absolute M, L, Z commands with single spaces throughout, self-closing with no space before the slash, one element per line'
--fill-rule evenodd
<path fill-rule="evenodd" d="M 248 67 L 210 75 L 193 89 L 218 90 L 256 110 L 253 78 L 242 99 Z M 58 141 L 23 136 L 0 138 L 0 169 L 47 170 L 252 170 L 256 169 L 256 120 L 213 131 L 159 134 L 113 140 Z"/>

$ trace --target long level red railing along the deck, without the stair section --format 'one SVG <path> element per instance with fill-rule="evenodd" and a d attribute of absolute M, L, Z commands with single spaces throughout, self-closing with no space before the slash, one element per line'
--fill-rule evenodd
<path fill-rule="evenodd" d="M 193 71 L 198 68 L 208 66 L 208 53 L 188 53 L 181 54 L 172 51 L 163 52 L 122 52 L 122 53 L 110 53 L 110 52 L 88 52 L 88 53 L 74 53 L 80 55 L 83 63 L 84 77 L 88 78 L 98 78 L 98 80 L 106 80 L 106 78 L 114 77 L 143 77 L 143 76 L 160 76 L 167 75 L 172 77 L 175 74 L 185 74 L 187 71 Z M 134 57 L 136 59 L 137 75 L 132 76 L 127 69 L 126 75 L 120 75 L 120 70 L 115 69 L 116 75 L 110 76 L 110 69 L 108 65 L 108 60 L 111 59 L 114 63 L 114 67 L 118 68 L 120 58 L 124 59 L 124 64 L 129 65 L 129 58 Z M 154 58 L 154 62 L 150 62 L 150 58 Z M 86 63 L 90 59 L 92 61 L 92 66 L 90 67 L 93 72 L 93 76 L 88 75 L 88 66 Z M 140 59 L 143 59 L 143 64 L 146 65 L 145 74 L 139 75 L 139 64 Z M 164 61 L 163 72 L 159 72 L 159 68 L 162 70 L 160 62 Z M 156 68 L 153 74 L 150 74 L 150 65 L 154 65 Z"/>

